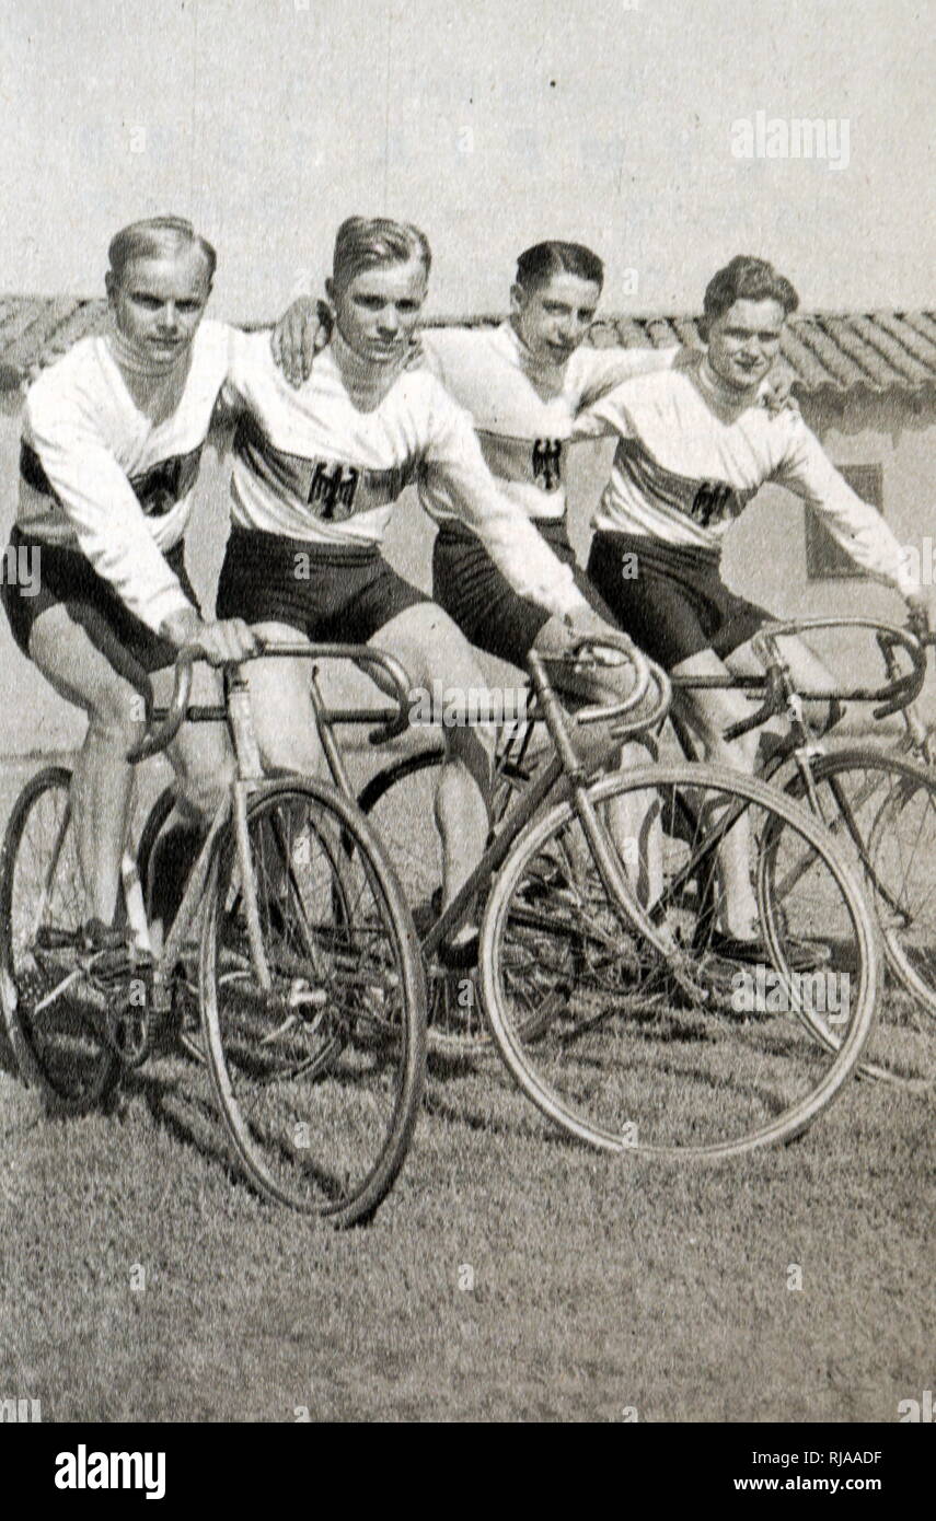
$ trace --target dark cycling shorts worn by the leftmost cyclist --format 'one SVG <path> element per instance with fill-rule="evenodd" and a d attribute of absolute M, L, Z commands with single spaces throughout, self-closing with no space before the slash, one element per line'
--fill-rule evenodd
<path fill-rule="evenodd" d="M 152 703 L 149 684 L 151 671 L 163 671 L 175 660 L 177 649 L 167 639 L 160 639 L 135 613 L 120 601 L 110 581 L 99 576 L 91 561 L 81 549 L 41 545 L 18 528 L 9 538 L 11 551 L 29 554 L 32 566 L 38 566 L 38 590 L 30 593 L 26 586 L 11 576 L 5 561 L 2 601 L 14 639 L 24 656 L 29 656 L 29 637 L 37 618 L 58 604 L 79 624 L 93 645 L 100 649 L 110 665 Z M 12 555 L 9 557 L 12 560 Z M 198 607 L 195 587 L 189 581 L 184 563 L 184 546 L 175 545 L 166 555 L 166 563 L 175 572 L 183 592 L 193 607 Z"/>

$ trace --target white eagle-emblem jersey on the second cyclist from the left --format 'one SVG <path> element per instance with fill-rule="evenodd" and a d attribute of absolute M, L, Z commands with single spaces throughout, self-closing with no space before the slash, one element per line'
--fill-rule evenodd
<path fill-rule="evenodd" d="M 231 517 L 307 543 L 380 543 L 409 482 L 437 484 L 516 590 L 554 613 L 584 601 L 568 566 L 495 485 L 472 421 L 428 371 L 403 371 L 368 411 L 332 350 L 294 389 L 265 333 L 234 335 L 224 405 L 239 412 Z"/>

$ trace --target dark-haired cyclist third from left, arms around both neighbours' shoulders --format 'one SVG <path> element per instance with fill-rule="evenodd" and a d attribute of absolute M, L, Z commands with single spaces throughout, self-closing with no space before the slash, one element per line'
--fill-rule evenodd
<path fill-rule="evenodd" d="M 466 408 L 499 488 L 607 619 L 568 538 L 566 470 L 575 417 L 630 376 L 670 368 L 682 350 L 583 347 L 603 281 L 601 260 L 583 245 L 537 243 L 517 260 L 508 321 L 487 329 L 423 329 L 408 364 L 425 365 Z M 274 335 L 274 353 L 294 385 L 315 362 L 317 324 L 318 304 L 300 297 Z M 476 648 L 525 668 L 531 648 L 552 646 L 548 610 L 516 592 L 441 478 L 422 479 L 419 491 L 440 526 L 432 557 L 435 601 Z"/>

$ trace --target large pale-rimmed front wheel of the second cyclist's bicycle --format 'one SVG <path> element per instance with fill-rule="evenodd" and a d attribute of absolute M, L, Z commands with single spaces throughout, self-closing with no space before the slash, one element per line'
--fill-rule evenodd
<path fill-rule="evenodd" d="M 546 1118 L 609 1151 L 718 1159 L 799 1135 L 874 1021 L 877 931 L 858 878 L 804 809 L 735 771 L 644 767 L 589 799 L 606 821 L 630 802 L 642 853 L 618 837 L 619 859 L 639 881 L 654 840 L 657 882 L 647 911 L 609 891 L 572 803 L 527 826 L 481 937 L 507 1068 Z M 744 961 L 720 949 L 720 850 L 741 829 L 762 935 Z"/>

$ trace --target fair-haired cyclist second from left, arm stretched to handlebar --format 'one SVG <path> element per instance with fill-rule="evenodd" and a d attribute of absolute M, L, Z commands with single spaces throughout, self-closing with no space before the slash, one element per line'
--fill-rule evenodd
<path fill-rule="evenodd" d="M 236 342 L 225 402 L 242 415 L 218 608 L 280 642 L 294 642 L 297 633 L 310 640 L 373 639 L 402 660 L 417 686 L 432 689 L 441 680 L 469 691 L 484 687 L 484 678 L 464 636 L 380 554 L 408 482 L 447 493 L 514 592 L 542 607 L 551 653 L 607 631 L 607 624 L 527 514 L 498 490 L 470 418 L 432 374 L 406 368 L 429 263 L 417 228 L 350 218 L 338 231 L 327 281 L 333 341 L 307 380 L 292 388 L 265 338 Z M 260 660 L 250 683 L 266 762 L 314 770 L 320 742 L 306 663 Z M 443 907 L 484 849 L 493 733 L 466 724 L 447 727 L 444 738 L 437 794 Z M 470 948 L 470 931 L 464 940 Z"/>

